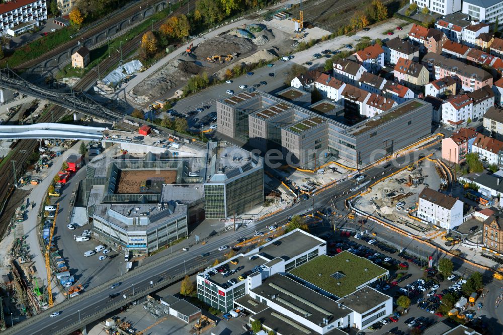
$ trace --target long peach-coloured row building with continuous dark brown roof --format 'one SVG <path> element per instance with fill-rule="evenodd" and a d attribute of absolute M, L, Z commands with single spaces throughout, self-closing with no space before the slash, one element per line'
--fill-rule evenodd
<path fill-rule="evenodd" d="M 423 57 L 423 64 L 428 67 L 435 79 L 453 76 L 464 91 L 475 91 L 492 85 L 492 75 L 473 65 L 459 60 L 446 58 L 434 52 Z"/>

